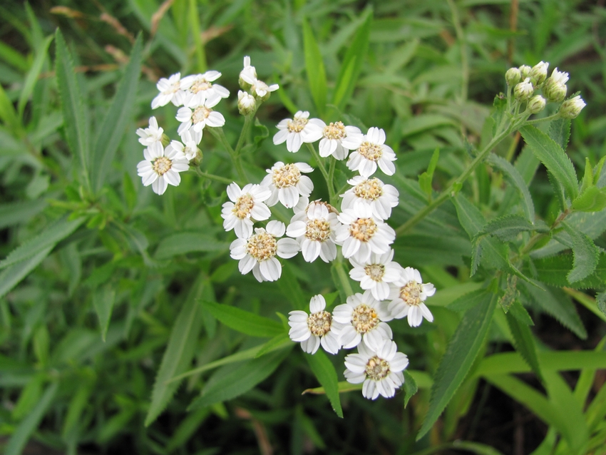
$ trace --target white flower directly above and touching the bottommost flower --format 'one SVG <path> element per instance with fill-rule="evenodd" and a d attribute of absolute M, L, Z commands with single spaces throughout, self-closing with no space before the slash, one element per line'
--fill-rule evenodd
<path fill-rule="evenodd" d="M 370 291 L 359 292 L 347 297 L 344 304 L 334 307 L 332 317 L 343 324 L 339 333 L 339 343 L 345 349 L 364 342 L 371 349 L 381 346 L 384 339 L 391 339 L 389 324 L 391 315 L 383 303 L 372 297 Z"/>

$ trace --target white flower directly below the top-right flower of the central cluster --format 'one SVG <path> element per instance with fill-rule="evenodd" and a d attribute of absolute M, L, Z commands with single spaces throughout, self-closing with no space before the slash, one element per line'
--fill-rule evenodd
<path fill-rule="evenodd" d="M 391 216 L 391 209 L 399 203 L 398 190 L 394 185 L 386 185 L 378 178 L 364 178 L 361 175 L 356 175 L 354 178 L 347 180 L 350 188 L 341 195 L 341 210 L 353 208 L 354 210 L 359 205 L 369 205 L 372 209 L 372 214 L 379 220 L 386 220 Z"/>

